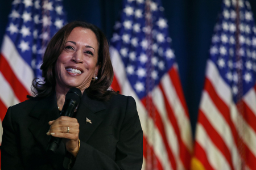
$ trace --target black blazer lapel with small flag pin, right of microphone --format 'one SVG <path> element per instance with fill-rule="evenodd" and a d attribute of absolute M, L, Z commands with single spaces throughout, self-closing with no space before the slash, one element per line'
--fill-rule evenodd
<path fill-rule="evenodd" d="M 86 92 L 82 95 L 82 100 L 77 110 L 76 118 L 80 125 L 79 138 L 87 142 L 94 130 L 101 124 L 105 117 L 104 102 L 90 99 Z M 86 121 L 88 118 L 89 121 Z"/>

